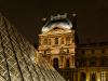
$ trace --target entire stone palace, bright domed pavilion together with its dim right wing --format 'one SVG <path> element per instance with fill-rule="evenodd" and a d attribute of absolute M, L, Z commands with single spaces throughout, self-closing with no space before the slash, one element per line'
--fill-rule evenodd
<path fill-rule="evenodd" d="M 39 52 L 67 81 L 108 81 L 108 43 L 79 44 L 77 15 L 51 16 Z"/>

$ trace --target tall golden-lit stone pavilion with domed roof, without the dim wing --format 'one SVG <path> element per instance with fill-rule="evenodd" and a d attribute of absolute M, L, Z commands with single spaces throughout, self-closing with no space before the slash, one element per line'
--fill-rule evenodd
<path fill-rule="evenodd" d="M 67 14 L 51 16 L 39 35 L 39 52 L 67 81 L 73 81 L 75 36 L 76 29 Z"/>

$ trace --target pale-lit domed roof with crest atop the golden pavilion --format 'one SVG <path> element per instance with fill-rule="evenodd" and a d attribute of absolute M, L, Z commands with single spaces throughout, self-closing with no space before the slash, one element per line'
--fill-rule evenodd
<path fill-rule="evenodd" d="M 72 28 L 71 22 L 67 18 L 67 14 L 51 16 L 51 19 L 42 27 L 42 32 L 49 31 L 53 27 Z"/>

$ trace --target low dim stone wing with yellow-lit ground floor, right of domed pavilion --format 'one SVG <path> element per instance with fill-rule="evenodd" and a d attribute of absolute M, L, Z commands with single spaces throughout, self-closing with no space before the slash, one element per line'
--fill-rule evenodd
<path fill-rule="evenodd" d="M 108 81 L 108 43 L 79 44 L 76 67 L 78 81 Z"/>

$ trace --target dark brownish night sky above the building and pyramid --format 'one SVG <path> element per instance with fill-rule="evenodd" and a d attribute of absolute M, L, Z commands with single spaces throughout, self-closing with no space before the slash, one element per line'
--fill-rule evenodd
<path fill-rule="evenodd" d="M 0 0 L 0 12 L 36 43 L 42 17 L 78 14 L 80 42 L 108 41 L 108 0 Z"/>

